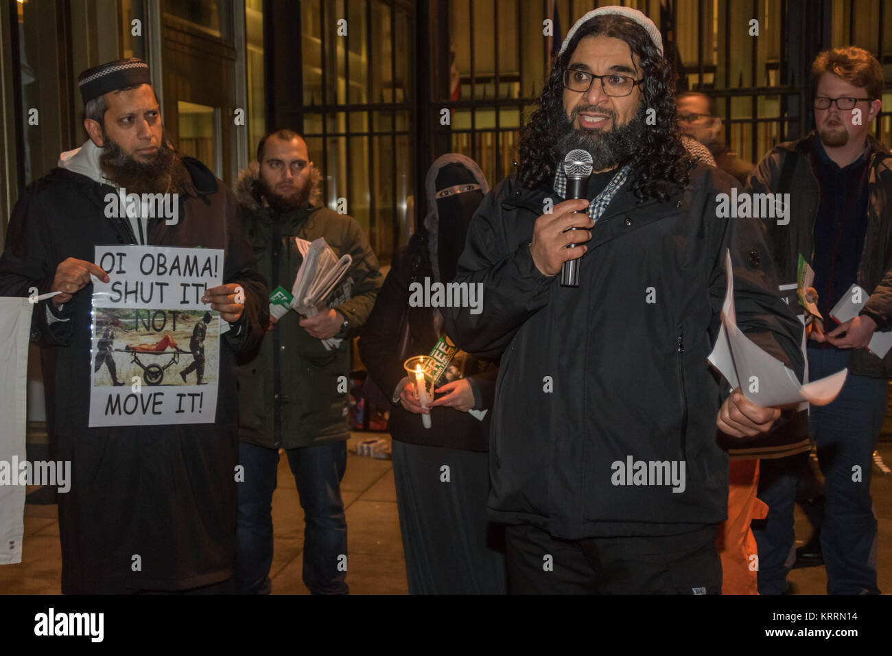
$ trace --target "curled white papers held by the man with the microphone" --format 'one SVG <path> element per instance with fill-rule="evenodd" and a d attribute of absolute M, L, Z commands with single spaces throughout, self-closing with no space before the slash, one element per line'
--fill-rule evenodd
<path fill-rule="evenodd" d="M 725 267 L 727 285 L 722 306 L 722 328 L 713 352 L 709 354 L 709 361 L 715 369 L 732 387 L 739 387 L 748 401 L 764 408 L 803 401 L 826 405 L 833 401 L 846 382 L 847 370 L 800 385 L 796 374 L 783 362 L 765 353 L 737 327 L 730 251 L 726 254 Z"/>

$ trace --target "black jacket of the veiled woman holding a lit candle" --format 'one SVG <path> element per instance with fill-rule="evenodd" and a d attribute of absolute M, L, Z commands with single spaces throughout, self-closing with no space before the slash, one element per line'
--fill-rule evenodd
<path fill-rule="evenodd" d="M 437 341 L 434 332 L 434 309 L 409 307 L 409 284 L 434 276 L 427 257 L 427 247 L 422 233 L 412 237 L 409 247 L 394 259 L 384 286 L 378 293 L 375 307 L 359 338 L 359 357 L 369 375 L 392 400 L 392 394 L 401 379 L 406 376 L 402 363 L 413 355 L 426 355 Z M 409 320 L 409 345 L 401 358 L 399 339 L 401 319 L 407 311 Z M 387 430 L 393 439 L 409 444 L 446 446 L 466 451 L 489 449 L 490 418 L 495 398 L 496 377 L 499 373 L 495 361 L 465 356 L 465 376 L 472 380 L 477 409 L 487 410 L 483 420 L 467 412 L 442 406 L 431 409 L 431 428 L 424 428 L 421 417 L 405 410 L 400 403 L 392 405 Z"/>

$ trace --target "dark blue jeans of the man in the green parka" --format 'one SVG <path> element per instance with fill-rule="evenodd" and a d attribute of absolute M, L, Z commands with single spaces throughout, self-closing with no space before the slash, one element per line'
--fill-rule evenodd
<path fill-rule="evenodd" d="M 288 449 L 288 464 L 304 513 L 303 583 L 312 594 L 347 594 L 347 521 L 341 479 L 347 443 Z M 268 594 L 273 561 L 272 498 L 278 450 L 239 444 L 244 481 L 238 483 L 235 585 L 240 594 Z"/>

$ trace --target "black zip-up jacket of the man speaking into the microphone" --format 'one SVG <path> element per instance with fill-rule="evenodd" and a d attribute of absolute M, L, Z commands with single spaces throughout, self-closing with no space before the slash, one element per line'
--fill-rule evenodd
<path fill-rule="evenodd" d="M 715 196 L 731 183 L 700 165 L 683 193 L 637 204 L 627 182 L 592 230 L 578 288 L 543 276 L 530 254 L 550 189 L 508 179 L 483 201 L 456 278 L 483 282 L 483 312 L 447 310 L 447 329 L 471 353 L 502 353 L 491 519 L 564 538 L 667 535 L 725 519 L 722 394 L 706 356 L 726 249 L 739 327 L 797 375 L 803 367 L 802 328 L 777 296 L 761 225 L 716 218 Z M 684 491 L 613 485 L 613 463 L 630 455 L 685 461 Z"/>

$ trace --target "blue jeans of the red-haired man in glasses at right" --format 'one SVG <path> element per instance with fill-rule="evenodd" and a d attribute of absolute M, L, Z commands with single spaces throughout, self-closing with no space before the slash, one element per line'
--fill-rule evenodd
<path fill-rule="evenodd" d="M 817 380 L 845 369 L 846 350 L 808 348 L 809 378 Z M 884 378 L 848 374 L 838 397 L 812 406 L 809 426 L 824 475 L 824 522 L 821 550 L 828 594 L 878 594 L 877 519 L 871 500 L 872 453 L 886 414 Z M 778 461 L 782 468 L 785 461 Z M 764 469 L 763 469 L 764 472 Z M 765 531 L 754 531 L 759 548 L 759 593 L 780 594 L 787 570 L 780 557 L 793 546 L 793 497 L 796 472 L 779 471 L 760 482 L 759 498 L 770 507 Z"/>

